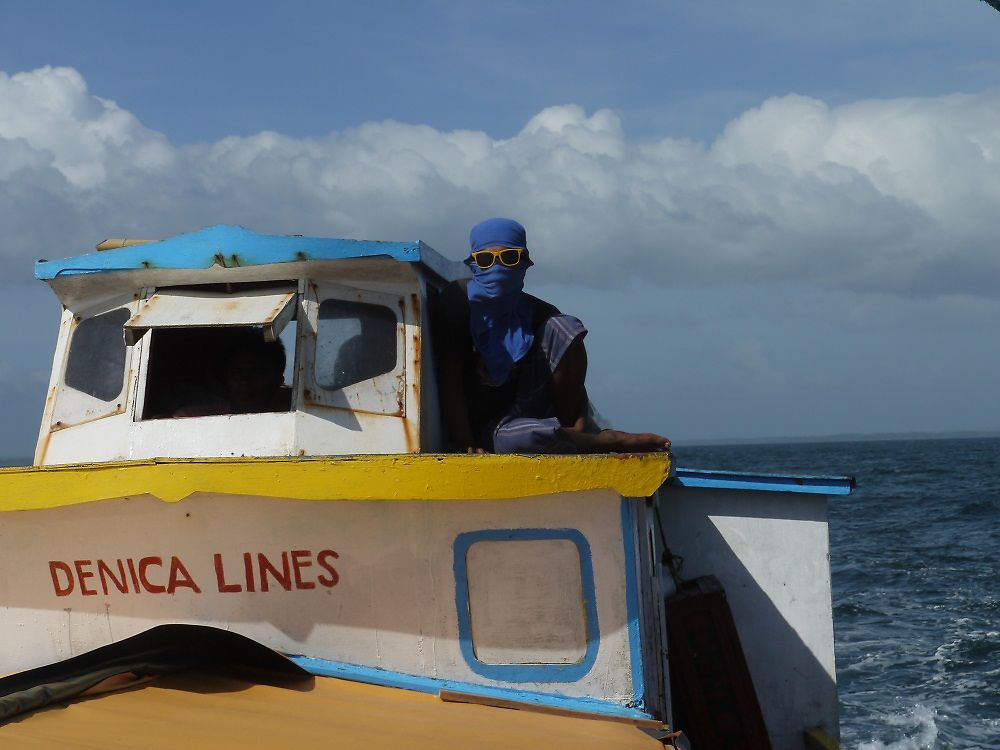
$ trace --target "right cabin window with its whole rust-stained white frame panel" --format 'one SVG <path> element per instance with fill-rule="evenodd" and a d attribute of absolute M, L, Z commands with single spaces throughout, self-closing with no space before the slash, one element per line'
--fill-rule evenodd
<path fill-rule="evenodd" d="M 312 289 L 306 402 L 405 416 L 402 298 L 332 284 Z"/>

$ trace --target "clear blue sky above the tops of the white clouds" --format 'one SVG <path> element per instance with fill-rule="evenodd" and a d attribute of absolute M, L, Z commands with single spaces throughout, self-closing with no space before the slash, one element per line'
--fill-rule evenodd
<path fill-rule="evenodd" d="M 504 138 L 539 110 L 612 108 L 636 137 L 710 139 L 769 96 L 842 104 L 1000 80 L 978 0 L 6 0 L 0 69 L 76 68 L 175 143 L 369 120 Z"/>

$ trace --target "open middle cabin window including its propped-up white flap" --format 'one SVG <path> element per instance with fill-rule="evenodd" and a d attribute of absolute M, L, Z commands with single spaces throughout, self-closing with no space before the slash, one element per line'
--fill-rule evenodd
<path fill-rule="evenodd" d="M 141 419 L 291 410 L 297 300 L 292 282 L 157 290 L 125 324 L 148 336 Z"/>

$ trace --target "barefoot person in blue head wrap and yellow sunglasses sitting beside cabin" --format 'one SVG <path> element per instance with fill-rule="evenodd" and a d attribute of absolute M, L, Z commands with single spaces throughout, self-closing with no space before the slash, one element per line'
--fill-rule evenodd
<path fill-rule="evenodd" d="M 469 453 L 664 451 L 652 433 L 600 430 L 584 387 L 587 329 L 522 291 L 534 265 L 512 219 L 472 228 L 472 279 L 442 290 L 435 313 L 442 416 Z"/>

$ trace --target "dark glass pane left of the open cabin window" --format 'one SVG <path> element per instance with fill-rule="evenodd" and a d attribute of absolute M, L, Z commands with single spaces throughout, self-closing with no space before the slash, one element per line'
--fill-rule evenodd
<path fill-rule="evenodd" d="M 70 342 L 63 382 L 101 401 L 114 401 L 125 382 L 125 308 L 81 320 Z"/>

